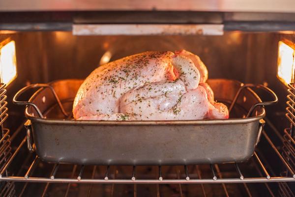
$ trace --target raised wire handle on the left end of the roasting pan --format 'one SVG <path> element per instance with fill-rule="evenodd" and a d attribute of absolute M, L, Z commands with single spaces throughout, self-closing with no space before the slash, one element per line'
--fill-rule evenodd
<path fill-rule="evenodd" d="M 27 90 L 29 89 L 32 89 L 32 88 L 49 88 L 51 90 L 51 92 L 53 93 L 55 99 L 57 100 L 58 104 L 59 104 L 59 108 L 61 110 L 61 112 L 63 113 L 64 116 L 68 116 L 68 114 L 65 112 L 60 100 L 59 100 L 59 97 L 57 95 L 57 93 L 55 92 L 54 88 L 48 84 L 43 84 L 43 83 L 36 83 L 36 84 L 30 84 L 24 88 L 22 88 L 20 91 L 18 91 L 15 96 L 13 97 L 13 103 L 16 104 L 16 105 L 30 105 L 32 106 L 38 113 L 39 117 L 40 118 L 44 118 L 42 112 L 40 111 L 40 109 L 38 108 L 37 105 L 35 105 L 34 103 L 32 102 L 29 102 L 29 101 L 19 101 L 18 98 L 24 93 L 26 92 Z"/>

